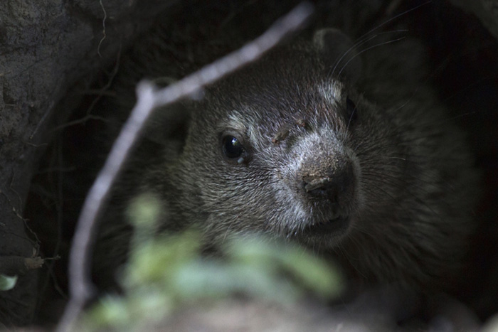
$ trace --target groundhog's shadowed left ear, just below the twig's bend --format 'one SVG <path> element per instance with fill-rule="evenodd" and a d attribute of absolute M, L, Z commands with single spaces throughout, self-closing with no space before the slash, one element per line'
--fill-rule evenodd
<path fill-rule="evenodd" d="M 189 127 L 190 111 L 184 104 L 176 103 L 154 109 L 147 120 L 143 136 L 159 144 L 185 141 Z"/>

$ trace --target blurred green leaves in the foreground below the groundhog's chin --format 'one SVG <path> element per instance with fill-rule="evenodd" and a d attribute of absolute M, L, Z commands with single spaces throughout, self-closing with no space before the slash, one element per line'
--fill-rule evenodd
<path fill-rule="evenodd" d="M 135 203 L 129 215 L 137 231 L 122 275 L 125 295 L 101 299 L 88 312 L 85 329 L 141 330 L 144 322 L 154 326 L 182 306 L 234 294 L 285 306 L 305 293 L 329 299 L 341 291 L 337 271 L 302 247 L 245 235 L 228 240 L 221 255 L 206 257 L 196 230 L 152 236 L 157 201 L 143 196 Z"/>

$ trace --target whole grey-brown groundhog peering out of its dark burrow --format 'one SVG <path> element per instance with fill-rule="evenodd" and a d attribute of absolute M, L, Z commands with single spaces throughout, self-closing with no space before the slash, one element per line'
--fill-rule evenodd
<path fill-rule="evenodd" d="M 445 283 L 474 229 L 478 174 L 428 84 L 423 46 L 401 37 L 305 31 L 158 109 L 102 217 L 97 283 L 124 262 L 124 210 L 142 193 L 161 201 L 161 231 L 195 225 L 213 243 L 264 232 L 332 257 L 351 278 Z M 135 57 L 130 77 L 173 82 L 199 67 L 201 50 L 182 51 Z M 136 81 L 120 80 L 117 100 L 131 109 Z"/>

